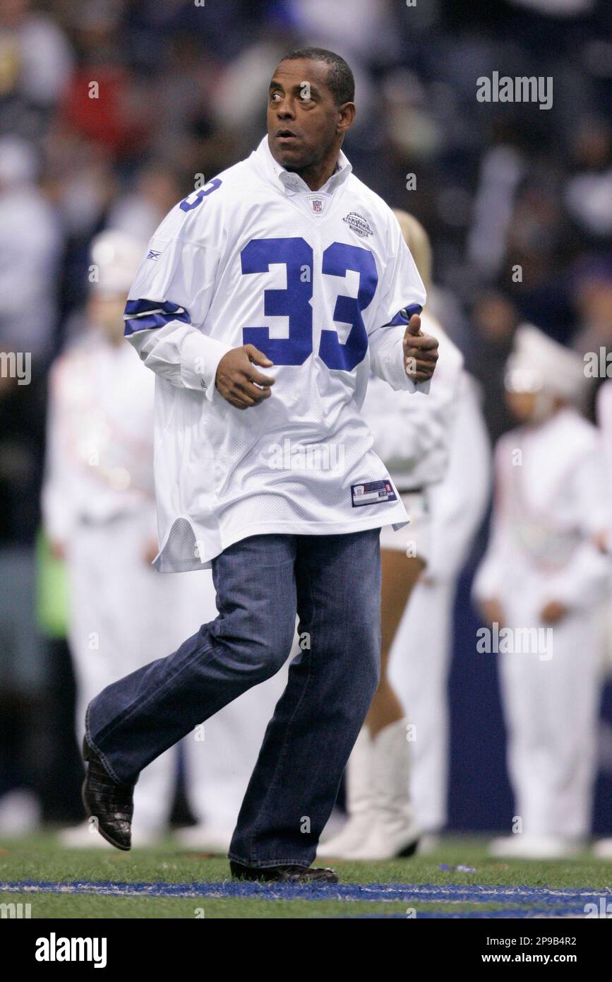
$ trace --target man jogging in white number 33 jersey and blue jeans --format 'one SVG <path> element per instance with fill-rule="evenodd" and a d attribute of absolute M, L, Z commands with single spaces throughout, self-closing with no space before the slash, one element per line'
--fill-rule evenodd
<path fill-rule="evenodd" d="M 338 55 L 283 58 L 268 136 L 170 212 L 126 308 L 157 374 L 155 565 L 212 565 L 219 616 L 90 703 L 83 800 L 129 848 L 140 771 L 274 675 L 297 614 L 229 847 L 245 879 L 336 882 L 309 867 L 377 687 L 380 529 L 407 520 L 359 409 L 371 370 L 416 391 L 437 357 L 399 225 L 340 149 L 353 97 Z"/>

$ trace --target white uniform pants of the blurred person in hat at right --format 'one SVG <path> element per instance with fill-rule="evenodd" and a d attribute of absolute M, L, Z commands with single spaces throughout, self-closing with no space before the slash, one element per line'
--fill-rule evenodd
<path fill-rule="evenodd" d="M 530 604 L 502 603 L 508 627 L 536 625 Z M 499 659 L 508 770 L 525 833 L 568 839 L 589 833 L 603 645 L 604 619 L 594 608 L 553 627 L 549 660 L 533 653 L 480 656 Z"/>

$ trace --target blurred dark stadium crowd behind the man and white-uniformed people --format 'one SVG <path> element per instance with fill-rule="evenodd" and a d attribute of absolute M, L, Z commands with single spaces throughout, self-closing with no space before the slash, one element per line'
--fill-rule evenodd
<path fill-rule="evenodd" d="M 272 70 L 306 43 L 354 71 L 355 173 L 432 237 L 438 314 L 482 384 L 491 438 L 510 426 L 503 365 L 518 323 L 612 350 L 606 0 L 0 0 L 0 351 L 31 353 L 32 373 L 29 385 L 0 377 L 0 828 L 15 793 L 20 822 L 80 817 L 74 681 L 39 495 L 47 373 L 79 330 L 89 243 L 109 228 L 146 240 L 198 175 L 246 156 L 265 132 Z M 495 71 L 551 77 L 552 107 L 479 102 L 477 79 Z M 466 618 L 451 824 L 488 829 L 507 821 L 509 791 L 494 666 L 462 661 Z M 601 768 L 605 831 L 605 720 Z"/>

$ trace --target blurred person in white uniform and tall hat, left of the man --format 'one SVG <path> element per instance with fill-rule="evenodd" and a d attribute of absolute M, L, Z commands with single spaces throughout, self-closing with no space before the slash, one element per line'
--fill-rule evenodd
<path fill-rule="evenodd" d="M 53 551 L 68 567 L 79 743 L 92 694 L 148 660 L 170 614 L 165 582 L 149 567 L 157 552 L 153 387 L 123 338 L 123 308 L 142 251 L 122 233 L 94 240 L 87 332 L 50 376 L 43 516 Z M 142 774 L 136 843 L 165 826 L 173 765 L 166 754 Z M 66 846 L 103 843 L 90 831 L 77 826 L 61 838 Z"/>

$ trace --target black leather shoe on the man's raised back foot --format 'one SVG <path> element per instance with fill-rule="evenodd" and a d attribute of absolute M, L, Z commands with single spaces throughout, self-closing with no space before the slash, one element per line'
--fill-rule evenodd
<path fill-rule="evenodd" d="M 131 846 L 134 786 L 113 781 L 84 737 L 82 752 L 88 764 L 81 791 L 85 813 L 96 819 L 96 828 L 107 843 L 127 850 Z"/>

